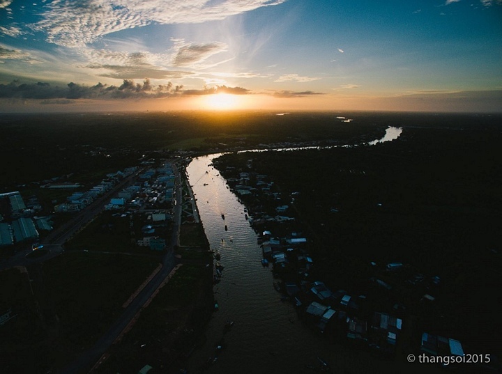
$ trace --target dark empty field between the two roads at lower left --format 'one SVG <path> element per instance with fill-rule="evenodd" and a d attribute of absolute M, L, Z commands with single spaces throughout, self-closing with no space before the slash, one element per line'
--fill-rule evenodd
<path fill-rule="evenodd" d="M 43 277 L 36 297 L 47 325 L 57 331 L 45 361 L 61 367 L 89 348 L 157 266 L 153 258 L 66 252 L 36 270 Z"/>

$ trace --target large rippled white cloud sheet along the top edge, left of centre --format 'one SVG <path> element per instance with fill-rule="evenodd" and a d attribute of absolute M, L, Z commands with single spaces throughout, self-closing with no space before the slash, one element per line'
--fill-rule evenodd
<path fill-rule="evenodd" d="M 6 0 L 0 0 L 3 3 Z M 54 0 L 44 3 L 34 31 L 47 41 L 66 47 L 82 47 L 102 36 L 149 24 L 184 24 L 224 20 L 287 0 Z"/>

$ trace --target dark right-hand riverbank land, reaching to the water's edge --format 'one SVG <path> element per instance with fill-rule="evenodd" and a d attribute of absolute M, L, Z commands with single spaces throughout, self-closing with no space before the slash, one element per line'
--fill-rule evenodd
<path fill-rule="evenodd" d="M 367 326 L 363 341 L 371 337 L 374 313 L 400 318 L 403 330 L 393 351 L 397 361 L 420 352 L 423 332 L 458 339 L 466 352 L 496 357 L 500 351 L 492 322 L 498 320 L 499 306 L 489 301 L 492 288 L 473 293 L 471 286 L 501 281 L 495 249 L 500 237 L 494 227 L 499 213 L 487 204 L 499 201 L 492 177 L 500 171 L 485 174 L 494 166 L 499 133 L 488 139 L 476 127 L 462 125 L 404 126 L 402 138 L 392 143 L 232 154 L 214 165 L 248 207 L 255 230 L 271 233 L 264 241 L 270 244 L 277 237 L 277 247 L 294 249 L 286 243 L 288 235 L 307 237 L 303 250 L 313 259 L 307 277 L 309 264 L 298 263 L 297 249 L 282 257 L 289 262 L 285 266 L 277 263 L 281 257 L 273 260 L 273 272 L 284 283 L 299 289 L 301 281 L 310 284 L 303 288 L 310 296 L 299 297 L 303 308 L 305 301 L 310 305 L 317 299 L 358 318 Z M 388 264 L 399 270 L 389 271 Z M 340 299 L 319 299 L 312 281 L 323 281 L 325 290 Z M 322 292 L 319 287 L 313 289 Z M 357 311 L 340 306 L 344 295 Z M 489 309 L 477 309 L 480 295 Z M 319 317 L 310 319 L 318 329 Z M 343 340 L 348 328 L 343 327 Z"/>

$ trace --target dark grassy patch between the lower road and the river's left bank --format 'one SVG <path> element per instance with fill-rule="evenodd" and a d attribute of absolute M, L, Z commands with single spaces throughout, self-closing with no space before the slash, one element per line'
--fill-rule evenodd
<path fill-rule="evenodd" d="M 159 371 L 182 365 L 213 309 L 211 269 L 183 265 L 147 309 L 98 373 L 137 373 L 149 364 Z"/>

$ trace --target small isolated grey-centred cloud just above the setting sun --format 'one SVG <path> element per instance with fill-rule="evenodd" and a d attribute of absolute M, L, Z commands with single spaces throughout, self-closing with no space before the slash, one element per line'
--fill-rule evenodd
<path fill-rule="evenodd" d="M 213 54 L 225 52 L 227 45 L 222 42 L 205 44 L 186 43 L 185 40 L 174 40 L 174 66 L 190 66 L 208 59 Z"/>

